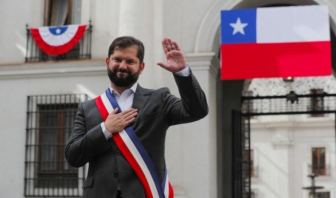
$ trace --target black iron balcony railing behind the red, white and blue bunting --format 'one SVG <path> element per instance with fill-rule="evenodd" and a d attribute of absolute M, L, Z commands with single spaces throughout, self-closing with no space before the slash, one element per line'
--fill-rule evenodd
<path fill-rule="evenodd" d="M 81 40 L 68 53 L 59 56 L 45 54 L 35 43 L 32 38 L 28 24 L 27 31 L 27 49 L 26 49 L 26 63 L 27 62 L 43 62 L 43 61 L 59 61 L 59 60 L 79 60 L 91 59 L 91 35 L 92 25 L 91 21 L 87 26 L 85 33 Z"/>

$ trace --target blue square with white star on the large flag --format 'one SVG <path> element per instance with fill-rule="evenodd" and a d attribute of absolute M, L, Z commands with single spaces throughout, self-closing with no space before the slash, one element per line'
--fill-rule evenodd
<path fill-rule="evenodd" d="M 256 9 L 221 11 L 222 44 L 256 42 Z"/>

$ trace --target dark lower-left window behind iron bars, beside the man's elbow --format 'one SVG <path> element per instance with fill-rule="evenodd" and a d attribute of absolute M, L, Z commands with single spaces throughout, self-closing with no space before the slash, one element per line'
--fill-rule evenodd
<path fill-rule="evenodd" d="M 77 109 L 77 103 L 38 105 L 38 187 L 77 187 L 77 168 L 69 166 L 64 157 Z"/>

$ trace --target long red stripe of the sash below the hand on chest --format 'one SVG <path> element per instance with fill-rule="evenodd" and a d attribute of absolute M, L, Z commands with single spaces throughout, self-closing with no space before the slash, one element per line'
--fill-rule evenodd
<path fill-rule="evenodd" d="M 144 188 L 144 192 L 147 196 L 147 198 L 152 198 L 153 195 L 151 193 L 148 181 L 145 177 L 145 175 L 142 172 L 142 169 L 140 168 L 139 164 L 133 157 L 132 153 L 129 151 L 128 147 L 124 143 L 124 141 L 121 139 L 119 133 L 113 133 L 112 135 L 113 140 L 117 144 L 118 148 L 120 149 L 121 153 L 124 155 L 126 160 L 128 161 L 129 165 L 133 168 L 134 172 L 138 176 L 140 182 L 142 183 L 142 186 Z"/>

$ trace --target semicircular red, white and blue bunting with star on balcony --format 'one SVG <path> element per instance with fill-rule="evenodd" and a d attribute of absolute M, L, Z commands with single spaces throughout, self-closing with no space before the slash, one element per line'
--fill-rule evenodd
<path fill-rule="evenodd" d="M 31 28 L 32 37 L 44 53 L 58 56 L 68 53 L 82 38 L 86 25 Z"/>

